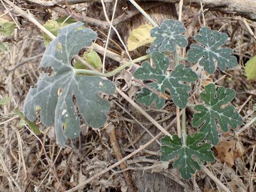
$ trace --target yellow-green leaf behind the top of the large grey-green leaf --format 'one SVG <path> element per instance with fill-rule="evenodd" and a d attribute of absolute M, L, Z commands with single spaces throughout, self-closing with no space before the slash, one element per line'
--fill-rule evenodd
<path fill-rule="evenodd" d="M 45 22 L 44 27 L 49 30 L 54 36 L 57 36 L 60 29 L 71 23 L 76 22 L 73 18 L 61 17 L 56 20 L 48 20 Z M 65 21 L 66 20 L 66 21 Z M 65 21 L 65 23 L 63 23 Z M 43 33 L 44 45 L 47 46 L 51 41 L 51 37 Z"/>

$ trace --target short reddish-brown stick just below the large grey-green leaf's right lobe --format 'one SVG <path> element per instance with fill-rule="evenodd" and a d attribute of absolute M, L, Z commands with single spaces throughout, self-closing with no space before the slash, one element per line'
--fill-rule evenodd
<path fill-rule="evenodd" d="M 110 142 L 112 144 L 112 147 L 113 147 L 115 156 L 117 158 L 117 161 L 121 161 L 123 156 L 122 156 L 119 144 L 118 144 L 118 140 L 116 138 L 116 129 L 115 129 L 113 124 L 110 124 L 110 127 L 109 127 L 109 129 L 107 129 L 107 132 L 109 134 Z M 121 163 L 120 167 L 121 167 L 122 170 L 127 169 L 127 165 L 126 165 L 125 162 Z M 126 181 L 127 185 L 131 188 L 134 188 L 134 183 L 133 183 L 133 180 L 132 180 L 131 173 L 129 171 L 124 171 L 123 175 L 124 175 L 124 178 L 125 178 L 125 181 Z"/>

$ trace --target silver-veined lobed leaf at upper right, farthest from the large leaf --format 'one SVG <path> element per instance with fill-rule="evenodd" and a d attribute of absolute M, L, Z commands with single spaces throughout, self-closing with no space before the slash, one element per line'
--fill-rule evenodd
<path fill-rule="evenodd" d="M 191 44 L 188 50 L 188 61 L 197 62 L 204 67 L 208 73 L 213 74 L 215 71 L 214 60 L 217 60 L 220 70 L 225 71 L 226 68 L 234 68 L 237 66 L 237 60 L 233 54 L 233 50 L 224 45 L 228 39 L 228 35 L 220 33 L 217 30 L 212 31 L 208 27 L 202 27 L 199 34 L 195 36 L 198 43 Z"/>

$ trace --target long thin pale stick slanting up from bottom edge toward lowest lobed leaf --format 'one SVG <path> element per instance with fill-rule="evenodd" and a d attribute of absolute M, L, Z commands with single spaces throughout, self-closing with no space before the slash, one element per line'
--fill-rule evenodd
<path fill-rule="evenodd" d="M 120 90 L 121 91 L 121 90 Z M 122 92 L 122 91 L 121 91 Z M 155 120 L 154 120 L 155 121 Z M 174 118 L 172 120 L 172 122 L 169 124 L 169 126 L 166 127 L 166 129 L 169 129 L 169 127 L 171 127 L 174 123 L 176 122 L 176 118 Z M 153 122 L 152 122 L 153 123 Z M 143 149 L 145 149 L 146 147 L 148 147 L 149 145 L 151 145 L 151 143 L 153 143 L 156 139 L 158 139 L 163 133 L 160 132 L 156 135 L 156 137 L 154 137 L 153 139 L 149 140 L 145 145 L 140 146 L 137 150 L 133 151 L 131 154 L 127 155 L 126 157 L 122 158 L 120 161 L 116 162 L 115 164 L 109 166 L 107 169 L 93 175 L 91 178 L 85 180 L 84 182 L 78 184 L 76 187 L 67 190 L 66 192 L 74 192 L 77 189 L 83 188 L 87 183 L 90 183 L 91 181 L 93 181 L 94 179 L 100 177 L 102 174 L 107 173 L 108 171 L 114 169 L 116 166 L 120 165 L 121 163 L 123 163 L 124 161 L 126 161 L 127 159 L 131 158 L 132 156 L 134 156 L 135 154 L 139 153 L 140 151 L 142 151 Z"/>

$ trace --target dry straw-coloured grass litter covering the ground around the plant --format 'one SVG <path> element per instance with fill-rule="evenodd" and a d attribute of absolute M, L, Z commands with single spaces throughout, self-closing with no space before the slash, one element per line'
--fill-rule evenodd
<path fill-rule="evenodd" d="M 186 17 L 183 16 L 182 20 L 190 29 L 191 35 L 195 35 L 199 27 L 202 26 L 203 21 L 200 20 L 195 22 L 195 25 L 190 26 L 197 13 L 198 10 L 196 9 L 183 10 L 183 15 Z M 63 191 L 105 170 L 117 160 L 111 147 L 107 126 L 99 131 L 83 124 L 80 137 L 72 141 L 69 140 L 65 149 L 61 149 L 57 145 L 54 128 L 43 126 L 39 122 L 39 117 L 36 122 L 41 127 L 41 135 L 38 138 L 28 130 L 28 127 L 18 127 L 19 118 L 13 114 L 13 110 L 22 110 L 29 87 L 36 84 L 41 73 L 41 70 L 38 70 L 39 59 L 30 61 L 11 73 L 8 69 L 20 61 L 44 51 L 39 30 L 34 26 L 28 26 L 29 23 L 26 21 L 23 22 L 25 23 L 24 26 L 26 24 L 27 26 L 15 30 L 14 34 L 14 37 L 22 38 L 22 40 L 10 44 L 7 51 L 0 53 L 0 99 L 6 96 L 10 97 L 8 105 L 0 106 L 0 191 Z M 244 124 L 237 130 L 243 129 L 246 124 L 251 122 L 250 126 L 245 127 L 243 132 L 239 132 L 239 135 L 235 134 L 237 130 L 221 134 L 221 141 L 234 141 L 235 143 L 231 148 L 233 166 L 227 162 L 221 162 L 220 159 L 216 159 L 214 163 L 206 166 L 231 191 L 252 192 L 255 191 L 256 186 L 256 123 L 252 122 L 256 114 L 256 84 L 255 81 L 246 80 L 244 66 L 245 62 L 255 55 L 255 39 L 246 28 L 244 21 L 239 17 L 228 17 L 216 12 L 207 12 L 205 22 L 212 29 L 220 30 L 230 36 L 227 45 L 235 50 L 239 66 L 227 70 L 226 73 L 218 71 L 211 76 L 205 74 L 202 82 L 198 82 L 193 87 L 193 97 L 191 97 L 190 102 L 200 102 L 198 95 L 203 90 L 203 86 L 209 81 L 215 82 L 217 85 L 230 87 L 237 92 L 233 105 L 239 110 L 244 120 Z M 254 30 L 255 22 L 248 22 Z M 107 34 L 107 31 L 105 33 Z M 100 33 L 98 32 L 98 34 Z M 118 42 L 115 36 L 113 39 Z M 101 42 L 105 40 L 106 36 L 100 36 Z M 191 43 L 193 40 L 189 38 L 189 42 Z M 115 49 L 116 46 L 113 42 L 110 41 L 109 44 L 111 44 L 111 48 Z M 121 55 L 121 53 L 119 54 Z M 109 69 L 113 66 L 110 65 L 110 62 L 110 60 L 106 60 L 106 66 Z M 187 65 L 190 64 L 187 63 Z M 122 81 L 119 86 L 123 87 L 124 84 Z M 132 93 L 134 89 L 137 88 L 133 85 L 129 92 L 131 95 L 134 95 Z M 151 139 L 151 136 L 142 129 L 134 118 L 138 119 L 153 135 L 159 132 L 120 95 L 114 95 L 110 100 L 115 102 L 111 102 L 112 108 L 108 122 L 115 126 L 123 156 Z M 116 103 L 121 104 L 121 106 L 116 105 Z M 122 107 L 129 111 L 130 115 Z M 166 127 L 176 115 L 175 106 L 171 101 L 166 103 L 163 110 L 155 110 L 154 107 L 144 109 L 163 127 Z M 189 133 L 196 131 L 190 126 L 191 118 L 192 113 L 188 111 Z M 176 130 L 174 126 L 170 133 L 175 133 Z M 43 145 L 39 140 L 42 141 Z M 217 154 L 218 151 L 215 150 L 215 153 Z M 189 191 L 196 189 L 221 191 L 203 171 L 198 171 L 191 181 L 182 180 L 177 171 L 172 169 L 171 164 L 159 162 L 159 145 L 157 142 L 154 142 L 147 150 L 141 151 L 126 164 L 127 170 L 130 171 L 139 190 L 142 190 L 143 184 L 146 183 L 142 175 L 154 172 L 155 178 L 162 177 L 162 180 L 168 181 L 165 186 L 164 184 L 161 186 L 163 189 L 171 181 L 175 181 L 173 185 L 188 188 Z M 154 179 L 150 181 L 154 182 Z M 93 180 L 90 185 L 86 185 L 80 191 L 126 191 L 127 189 L 123 171 L 116 167 L 102 177 Z"/>

